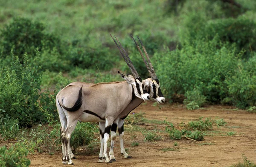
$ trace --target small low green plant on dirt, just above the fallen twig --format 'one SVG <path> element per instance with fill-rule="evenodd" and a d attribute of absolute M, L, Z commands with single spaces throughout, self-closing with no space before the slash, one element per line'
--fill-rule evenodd
<path fill-rule="evenodd" d="M 212 119 L 206 118 L 205 121 L 203 117 L 200 117 L 198 121 L 191 121 L 186 126 L 189 130 L 211 130 L 212 129 Z"/>

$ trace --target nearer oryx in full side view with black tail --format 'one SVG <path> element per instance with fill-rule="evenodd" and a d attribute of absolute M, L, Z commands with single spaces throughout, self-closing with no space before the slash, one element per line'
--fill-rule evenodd
<path fill-rule="evenodd" d="M 122 50 L 115 40 L 114 42 L 133 76 L 125 76 L 118 71 L 125 81 L 98 83 L 89 87 L 69 84 L 58 92 L 56 96 L 56 106 L 61 122 L 63 164 L 73 164 L 71 160 L 73 154 L 70 148 L 70 136 L 78 121 L 105 122 L 105 127 L 101 128 L 102 142 L 104 140 L 102 157 L 108 163 L 107 146 L 113 121 L 135 97 L 143 100 L 150 99 L 149 93 L 145 93 L 142 79 L 135 70 L 128 54 L 120 42 L 119 45 Z"/>

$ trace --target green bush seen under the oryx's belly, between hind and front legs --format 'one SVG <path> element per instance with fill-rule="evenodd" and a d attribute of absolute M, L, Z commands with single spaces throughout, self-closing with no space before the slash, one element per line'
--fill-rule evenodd
<path fill-rule="evenodd" d="M 97 127 L 90 122 L 78 122 L 71 135 L 70 145 L 76 150 L 79 146 L 88 145 L 93 140 Z"/>

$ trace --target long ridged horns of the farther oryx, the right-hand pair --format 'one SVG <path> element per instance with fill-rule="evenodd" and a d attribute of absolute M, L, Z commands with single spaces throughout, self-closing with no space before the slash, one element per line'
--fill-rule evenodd
<path fill-rule="evenodd" d="M 133 37 L 132 35 L 131 35 L 131 37 L 132 37 L 132 39 L 134 40 L 134 37 Z M 154 71 L 154 68 L 153 68 L 153 66 L 152 66 L 152 64 L 151 64 L 151 62 L 150 62 L 150 59 L 149 59 L 149 57 L 148 57 L 148 53 L 147 53 L 147 51 L 146 51 L 146 49 L 145 49 L 143 43 L 141 42 L 140 38 L 139 38 L 138 36 L 137 36 L 137 38 L 139 39 L 140 44 L 142 45 L 143 51 L 144 51 L 144 53 L 145 53 L 145 55 L 146 55 L 146 57 L 147 57 L 148 62 L 145 60 L 145 57 L 144 57 L 142 51 L 140 50 L 140 46 L 137 44 L 137 42 L 136 42 L 135 40 L 134 40 L 134 42 L 135 42 L 136 47 L 138 48 L 138 50 L 139 50 L 139 52 L 140 52 L 140 55 L 141 55 L 141 57 L 142 57 L 142 59 L 143 59 L 145 65 L 146 65 L 146 67 L 147 67 L 147 69 L 148 69 L 148 72 L 149 72 L 149 74 L 150 74 L 150 77 L 151 77 L 151 79 L 153 79 L 153 80 L 154 80 L 154 79 L 157 79 L 157 74 L 156 74 L 156 72 Z"/>

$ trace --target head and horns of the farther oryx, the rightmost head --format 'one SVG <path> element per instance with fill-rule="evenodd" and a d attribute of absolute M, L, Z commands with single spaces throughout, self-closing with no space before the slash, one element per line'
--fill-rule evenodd
<path fill-rule="evenodd" d="M 133 37 L 133 36 L 131 36 L 131 37 L 132 37 L 132 39 L 134 40 L 134 37 Z M 144 57 L 142 51 L 140 50 L 140 46 L 137 44 L 137 42 L 136 42 L 135 40 L 134 40 L 134 42 L 135 42 L 135 44 L 136 44 L 138 50 L 140 51 L 140 55 L 141 55 L 141 57 L 143 58 L 143 61 L 144 61 L 145 65 L 146 65 L 146 67 L 147 67 L 147 69 L 148 69 L 148 72 L 149 72 L 149 74 L 150 74 L 150 77 L 151 77 L 151 78 L 148 78 L 148 79 L 143 80 L 143 82 L 144 82 L 144 83 L 143 83 L 144 89 L 147 89 L 147 88 L 148 88 L 148 89 L 147 89 L 147 90 L 148 90 L 148 93 L 150 94 L 150 96 L 151 96 L 155 101 L 157 101 L 158 103 L 164 103 L 164 102 L 165 102 L 165 98 L 164 98 L 163 93 L 162 93 L 162 91 L 161 91 L 161 89 L 160 89 L 160 82 L 159 82 L 159 80 L 157 79 L 157 74 L 156 74 L 156 72 L 154 71 L 154 68 L 153 68 L 153 66 L 152 66 L 152 64 L 151 64 L 151 62 L 150 62 L 150 59 L 149 59 L 149 57 L 148 57 L 148 53 L 147 53 L 147 51 L 146 51 L 146 49 L 145 49 L 143 43 L 141 42 L 141 40 L 140 40 L 140 38 L 139 38 L 138 36 L 137 36 L 137 38 L 139 39 L 140 44 L 142 45 L 143 51 L 144 51 L 144 53 L 145 53 L 145 55 L 146 55 L 148 61 L 145 60 L 145 57 Z"/>

